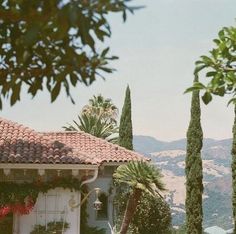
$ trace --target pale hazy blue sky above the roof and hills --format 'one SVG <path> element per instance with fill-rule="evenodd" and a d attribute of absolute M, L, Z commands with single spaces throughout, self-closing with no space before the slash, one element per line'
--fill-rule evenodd
<path fill-rule="evenodd" d="M 160 140 L 185 137 L 191 96 L 183 95 L 193 80 L 194 61 L 212 47 L 212 39 L 223 26 L 235 25 L 235 0 L 134 0 L 145 9 L 129 15 L 124 24 L 110 17 L 112 38 L 106 41 L 112 54 L 120 57 L 113 66 L 117 72 L 91 87 L 73 90 L 76 105 L 65 96 L 50 103 L 48 94 L 35 99 L 24 95 L 20 103 L 7 105 L 1 116 L 36 130 L 61 130 L 77 118 L 82 106 L 94 94 L 109 97 L 123 105 L 127 84 L 132 92 L 134 134 Z M 203 106 L 205 137 L 231 137 L 233 109 L 228 98 L 215 98 Z"/>

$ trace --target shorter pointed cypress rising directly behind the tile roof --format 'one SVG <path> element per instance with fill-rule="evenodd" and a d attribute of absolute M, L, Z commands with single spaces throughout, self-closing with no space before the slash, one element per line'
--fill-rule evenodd
<path fill-rule="evenodd" d="M 130 88 L 127 86 L 125 93 L 125 101 L 122 108 L 122 114 L 120 118 L 119 127 L 119 140 L 120 146 L 126 149 L 133 150 L 133 130 L 132 130 L 132 118 L 131 118 L 131 97 Z"/>

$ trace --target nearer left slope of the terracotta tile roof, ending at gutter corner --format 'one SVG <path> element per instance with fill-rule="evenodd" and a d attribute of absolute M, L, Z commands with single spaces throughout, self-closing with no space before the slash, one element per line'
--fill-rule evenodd
<path fill-rule="evenodd" d="M 30 128 L 0 118 L 0 163 L 91 164 L 92 158 L 50 141 Z"/>

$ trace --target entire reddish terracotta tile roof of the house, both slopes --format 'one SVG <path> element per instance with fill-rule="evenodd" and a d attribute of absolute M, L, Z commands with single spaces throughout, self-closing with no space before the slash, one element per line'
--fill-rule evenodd
<path fill-rule="evenodd" d="M 84 132 L 39 133 L 0 118 L 0 163 L 101 164 L 145 160 Z"/>

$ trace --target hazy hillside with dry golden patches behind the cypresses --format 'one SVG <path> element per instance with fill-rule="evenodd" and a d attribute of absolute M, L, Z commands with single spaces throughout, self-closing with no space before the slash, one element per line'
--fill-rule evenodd
<path fill-rule="evenodd" d="M 204 226 L 232 227 L 231 211 L 231 139 L 204 139 Z M 134 136 L 136 151 L 151 158 L 164 175 L 171 205 L 173 225 L 184 223 L 186 139 L 158 141 L 149 136 Z"/>

